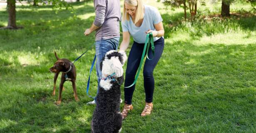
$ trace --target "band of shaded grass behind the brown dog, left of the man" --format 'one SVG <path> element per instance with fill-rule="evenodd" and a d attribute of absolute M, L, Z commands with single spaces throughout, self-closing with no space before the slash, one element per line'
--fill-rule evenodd
<path fill-rule="evenodd" d="M 91 46 L 94 43 L 94 34 L 85 36 L 83 33 L 86 28 L 89 28 L 94 20 L 94 17 L 89 17 L 86 20 L 80 18 L 62 19 L 62 20 L 27 20 L 22 22 L 27 28 L 14 31 L 2 30 L 2 41 L 5 51 L 37 51 L 37 48 L 47 48 L 45 50 L 55 48 L 80 49 L 85 46 Z M 72 26 L 71 26 L 72 25 Z M 71 26 L 71 27 L 70 27 Z M 12 36 L 10 36 L 12 34 Z M 43 36 L 43 37 L 42 37 Z M 43 38 L 43 39 L 41 39 Z M 5 43 L 17 43 L 22 46 L 7 45 Z M 29 41 L 30 40 L 30 41 Z M 6 41 L 6 42 L 5 42 Z M 29 42 L 28 42 L 29 41 Z M 50 46 L 50 47 L 49 47 Z M 71 50 L 70 49 L 70 50 Z"/>

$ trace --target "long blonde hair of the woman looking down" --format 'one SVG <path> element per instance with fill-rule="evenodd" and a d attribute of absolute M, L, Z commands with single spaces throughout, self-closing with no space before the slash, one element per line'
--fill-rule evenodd
<path fill-rule="evenodd" d="M 134 6 L 134 7 L 137 6 L 134 24 L 136 24 L 139 21 L 139 19 L 143 19 L 144 10 L 143 10 L 142 0 L 124 0 L 124 3 L 125 2 L 130 6 Z M 124 5 L 124 10 L 123 10 L 122 20 L 123 21 L 125 21 L 125 20 L 129 21 L 129 13 L 126 12 L 125 5 Z"/>

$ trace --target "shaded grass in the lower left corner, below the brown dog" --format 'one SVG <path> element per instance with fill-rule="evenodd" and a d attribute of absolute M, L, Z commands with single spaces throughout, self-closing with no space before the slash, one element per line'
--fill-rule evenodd
<path fill-rule="evenodd" d="M 50 92 L 46 91 L 47 89 L 38 87 L 27 88 L 25 91 L 17 88 L 6 94 L 7 98 L 2 102 L 6 105 L 0 109 L 1 123 L 5 125 L 1 125 L 0 132 L 90 133 L 94 106 L 86 106 L 84 100 L 75 102 L 72 93 L 65 94 L 68 90 L 62 94 L 62 104 L 56 106 L 56 97 L 50 96 Z"/>

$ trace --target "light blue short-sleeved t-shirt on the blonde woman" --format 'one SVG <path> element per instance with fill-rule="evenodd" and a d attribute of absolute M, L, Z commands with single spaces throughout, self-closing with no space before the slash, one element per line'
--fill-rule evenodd
<path fill-rule="evenodd" d="M 122 29 L 124 31 L 129 31 L 131 36 L 133 37 L 133 40 L 136 41 L 139 44 L 144 44 L 147 34 L 146 31 L 150 30 L 156 30 L 154 27 L 154 24 L 158 24 L 161 21 L 163 21 L 159 11 L 157 8 L 144 5 L 145 12 L 144 12 L 144 18 L 142 25 L 140 27 L 135 26 L 135 24 L 132 22 L 132 17 L 129 16 L 129 21 L 125 20 L 122 21 Z M 159 37 L 154 37 L 154 41 L 157 41 Z"/>

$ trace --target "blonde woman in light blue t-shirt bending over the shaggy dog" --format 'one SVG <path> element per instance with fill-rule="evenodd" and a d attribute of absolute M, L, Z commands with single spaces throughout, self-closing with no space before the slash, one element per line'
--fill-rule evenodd
<path fill-rule="evenodd" d="M 133 44 L 127 60 L 127 69 L 125 75 L 124 86 L 132 85 L 137 70 L 139 68 L 140 58 L 147 33 L 152 32 L 154 36 L 155 55 L 152 60 L 146 59 L 144 63 L 144 90 L 145 90 L 145 108 L 141 116 L 151 114 L 153 109 L 153 93 L 154 93 L 154 77 L 153 71 L 164 50 L 164 27 L 162 17 L 159 11 L 152 6 L 143 5 L 142 0 L 124 0 L 124 11 L 122 15 L 123 40 L 119 51 L 125 51 L 129 45 L 130 36 L 133 37 Z M 152 58 L 153 53 L 149 49 L 149 58 Z M 132 106 L 132 95 L 135 85 L 129 88 L 124 88 L 124 109 L 122 116 L 125 118 Z"/>

